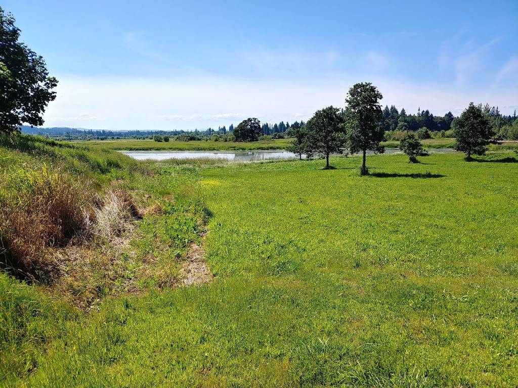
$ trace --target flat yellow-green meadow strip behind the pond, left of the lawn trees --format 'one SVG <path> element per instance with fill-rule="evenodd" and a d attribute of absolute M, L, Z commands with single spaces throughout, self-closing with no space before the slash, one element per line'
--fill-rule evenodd
<path fill-rule="evenodd" d="M 223 142 L 223 141 L 175 141 L 156 142 L 154 140 L 118 139 L 118 140 L 86 140 L 71 142 L 76 145 L 93 145 L 125 151 L 249 151 L 249 150 L 282 150 L 291 139 L 274 139 L 255 142 Z"/>

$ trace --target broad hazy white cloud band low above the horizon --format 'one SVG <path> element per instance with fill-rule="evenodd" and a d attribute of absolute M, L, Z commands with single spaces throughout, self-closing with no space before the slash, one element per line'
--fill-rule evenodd
<path fill-rule="evenodd" d="M 470 101 L 500 107 L 512 107 L 518 102 L 517 87 L 467 91 L 458 86 L 414 85 L 365 74 L 270 80 L 58 78 L 57 98 L 47 108 L 46 126 L 190 130 L 236 124 L 246 117 L 269 123 L 306 121 L 323 107 L 343 107 L 348 89 L 361 81 L 371 81 L 379 87 L 383 105 L 402 106 L 408 113 L 421 107 L 443 115 L 454 112 L 454 107 L 462 111 Z M 512 114 L 514 109 L 501 110 Z"/>

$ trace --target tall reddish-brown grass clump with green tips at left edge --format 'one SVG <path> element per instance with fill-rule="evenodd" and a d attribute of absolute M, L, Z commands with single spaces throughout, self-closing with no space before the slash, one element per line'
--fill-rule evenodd
<path fill-rule="evenodd" d="M 48 249 L 88 234 L 95 217 L 88 183 L 47 165 L 11 169 L 0 196 L 0 260 L 22 278 L 45 280 L 52 273 Z"/>

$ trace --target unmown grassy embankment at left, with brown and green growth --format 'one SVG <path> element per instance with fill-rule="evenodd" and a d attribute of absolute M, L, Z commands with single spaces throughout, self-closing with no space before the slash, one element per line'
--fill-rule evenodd
<path fill-rule="evenodd" d="M 194 170 L 0 137 L 0 381 L 36 370 L 47 343 L 106 297 L 179 285 L 205 229 Z"/>

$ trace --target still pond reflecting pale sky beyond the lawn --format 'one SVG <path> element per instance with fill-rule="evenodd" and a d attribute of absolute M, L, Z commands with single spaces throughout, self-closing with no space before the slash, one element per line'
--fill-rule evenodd
<path fill-rule="evenodd" d="M 284 150 L 275 151 L 121 151 L 124 155 L 137 160 L 166 160 L 166 159 L 222 159 L 233 162 L 251 162 L 276 159 L 298 158 L 291 152 Z M 385 154 L 400 153 L 399 148 L 387 148 Z M 452 148 L 432 148 L 429 153 L 449 154 L 455 152 Z M 371 151 L 367 152 L 371 154 Z"/>

